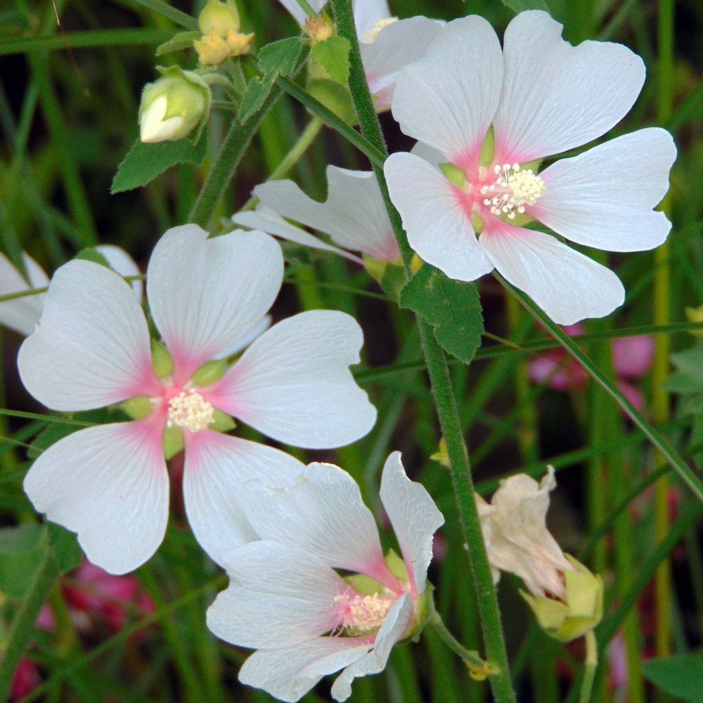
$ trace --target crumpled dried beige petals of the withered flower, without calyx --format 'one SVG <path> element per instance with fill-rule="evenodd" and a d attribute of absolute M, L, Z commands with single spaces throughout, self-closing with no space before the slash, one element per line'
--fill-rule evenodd
<path fill-rule="evenodd" d="M 527 474 L 503 479 L 491 503 L 476 494 L 489 562 L 498 583 L 501 571 L 517 574 L 534 595 L 564 598 L 563 572 L 573 572 L 547 529 L 549 492 L 557 486 L 554 467 L 538 484 Z"/>

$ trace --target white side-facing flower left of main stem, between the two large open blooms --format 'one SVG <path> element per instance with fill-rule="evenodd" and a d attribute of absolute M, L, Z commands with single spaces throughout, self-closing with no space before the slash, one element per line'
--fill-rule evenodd
<path fill-rule="evenodd" d="M 333 251 L 359 264 L 363 263 L 359 257 L 344 250 L 396 262 L 398 245 L 373 172 L 328 166 L 327 181 L 325 202 L 308 198 L 293 181 L 262 183 L 254 188 L 259 198 L 257 208 L 233 214 L 232 221 L 307 247 Z M 328 234 L 344 250 L 324 243 L 284 217 Z"/>

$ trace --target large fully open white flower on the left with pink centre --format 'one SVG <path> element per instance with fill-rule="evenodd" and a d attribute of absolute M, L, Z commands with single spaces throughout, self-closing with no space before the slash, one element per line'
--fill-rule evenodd
<path fill-rule="evenodd" d="M 262 232 L 207 239 L 195 225 L 167 231 L 147 276 L 150 314 L 172 360 L 155 355 L 157 376 L 146 317 L 124 280 L 87 261 L 54 274 L 37 330 L 20 349 L 25 386 L 58 411 L 128 399 L 141 408 L 133 413 L 141 419 L 89 427 L 53 444 L 25 478 L 34 507 L 77 532 L 93 563 L 128 572 L 162 541 L 165 428 L 185 445 L 188 520 L 219 561 L 224 550 L 254 536 L 240 508 L 240 484 L 285 480 L 302 466 L 283 451 L 217 432 L 232 426 L 224 413 L 314 449 L 347 444 L 373 426 L 375 408 L 349 373 L 359 361 L 361 328 L 341 312 L 285 319 L 231 368 L 216 362 L 220 373 L 208 378 L 213 365 L 204 364 L 265 328 L 282 278 L 280 247 Z M 164 366 L 172 366 L 170 373 Z"/>

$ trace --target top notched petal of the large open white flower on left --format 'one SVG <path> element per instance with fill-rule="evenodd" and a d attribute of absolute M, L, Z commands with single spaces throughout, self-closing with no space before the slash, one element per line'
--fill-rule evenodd
<path fill-rule="evenodd" d="M 194 224 L 169 229 L 154 247 L 147 295 L 183 383 L 205 361 L 236 347 L 261 322 L 283 280 L 283 254 L 263 232 L 207 239 Z"/>

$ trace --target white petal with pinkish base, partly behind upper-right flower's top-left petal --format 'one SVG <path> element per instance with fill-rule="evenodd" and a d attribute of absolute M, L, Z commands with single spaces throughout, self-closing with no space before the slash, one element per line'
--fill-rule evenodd
<path fill-rule="evenodd" d="M 390 108 L 400 70 L 425 56 L 442 26 L 427 17 L 411 17 L 383 27 L 372 44 L 359 44 L 369 89 L 377 96 L 376 110 Z"/>

